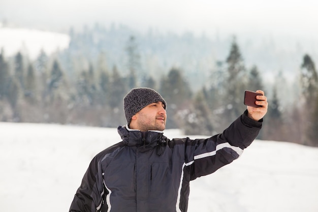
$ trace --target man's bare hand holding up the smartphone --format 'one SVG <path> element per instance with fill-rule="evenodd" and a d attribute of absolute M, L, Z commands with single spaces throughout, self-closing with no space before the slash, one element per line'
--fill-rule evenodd
<path fill-rule="evenodd" d="M 256 93 L 263 94 L 263 96 L 256 96 L 257 101 L 255 102 L 257 105 L 261 105 L 262 107 L 247 106 L 247 116 L 253 120 L 258 121 L 267 113 L 268 102 L 263 90 L 257 90 Z"/>

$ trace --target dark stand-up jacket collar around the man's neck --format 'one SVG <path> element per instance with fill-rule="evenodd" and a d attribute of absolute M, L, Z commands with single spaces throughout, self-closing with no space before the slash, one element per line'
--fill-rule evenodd
<path fill-rule="evenodd" d="M 166 144 L 166 136 L 163 131 L 147 131 L 141 132 L 139 130 L 129 129 L 128 126 L 119 126 L 117 128 L 118 134 L 122 141 L 128 146 L 149 146 L 155 147 Z"/>

